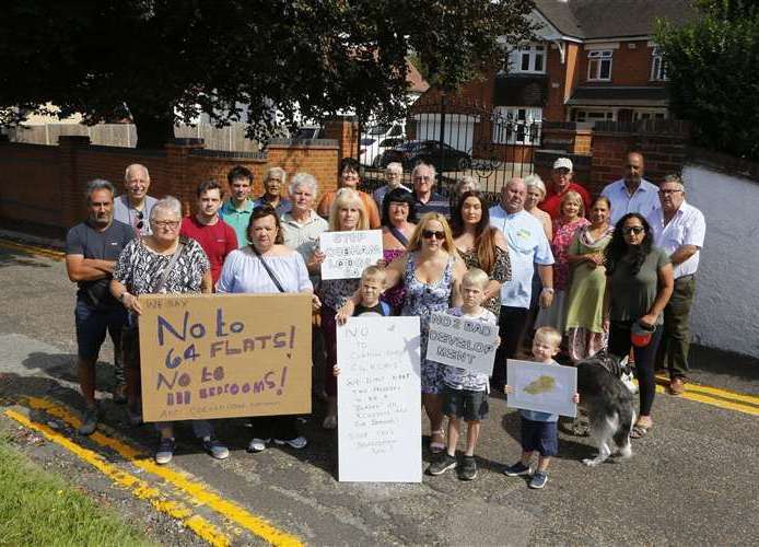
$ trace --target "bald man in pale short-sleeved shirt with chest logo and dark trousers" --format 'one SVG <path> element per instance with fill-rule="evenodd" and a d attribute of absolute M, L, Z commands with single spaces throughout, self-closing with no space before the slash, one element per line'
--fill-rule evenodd
<path fill-rule="evenodd" d="M 515 177 L 501 188 L 501 202 L 490 208 L 490 224 L 503 232 L 509 244 L 512 278 L 501 286 L 499 318 L 501 346 L 495 353 L 493 388 L 503 389 L 506 359 L 513 359 L 529 314 L 534 265 L 542 283 L 540 306 L 553 301 L 553 254 L 540 221 L 524 210 L 527 187 Z"/>

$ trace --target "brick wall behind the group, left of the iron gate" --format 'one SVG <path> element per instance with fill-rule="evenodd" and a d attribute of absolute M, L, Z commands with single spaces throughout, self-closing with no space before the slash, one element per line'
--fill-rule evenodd
<path fill-rule="evenodd" d="M 322 141 L 324 142 L 324 141 Z M 189 213 L 198 183 L 217 179 L 226 187 L 226 173 L 244 165 L 254 174 L 254 195 L 262 193 L 261 179 L 273 166 L 289 176 L 313 174 L 319 190 L 337 184 L 339 144 L 271 144 L 265 158 L 255 154 L 214 153 L 202 144 L 178 139 L 163 150 L 137 150 L 90 146 L 89 137 L 61 137 L 58 147 L 0 141 L 0 221 L 21 223 L 62 234 L 86 216 L 83 191 L 89 181 L 105 178 L 120 191 L 124 172 L 131 163 L 148 167 L 150 195 L 173 195 Z"/>

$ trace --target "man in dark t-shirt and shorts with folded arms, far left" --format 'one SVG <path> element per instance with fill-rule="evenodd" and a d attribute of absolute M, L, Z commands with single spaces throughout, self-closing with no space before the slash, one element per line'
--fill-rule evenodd
<path fill-rule="evenodd" d="M 114 220 L 114 186 L 107 181 L 87 185 L 86 221 L 69 230 L 66 236 L 66 270 L 77 282 L 77 347 L 79 385 L 84 397 L 85 412 L 79 432 L 92 434 L 97 427 L 98 407 L 95 400 L 95 363 L 106 330 L 114 342 L 117 381 L 124 384 L 119 359 L 121 327 L 127 312 L 110 295 L 109 283 L 114 266 L 124 247 L 135 237 L 133 230 Z M 116 388 L 116 393 L 120 389 Z"/>

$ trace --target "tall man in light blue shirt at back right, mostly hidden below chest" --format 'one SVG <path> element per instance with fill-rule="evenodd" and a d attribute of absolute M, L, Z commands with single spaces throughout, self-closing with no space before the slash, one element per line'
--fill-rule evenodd
<path fill-rule="evenodd" d="M 623 177 L 607 185 L 600 193 L 611 203 L 611 225 L 629 212 L 647 217 L 659 208 L 658 188 L 643 178 L 643 154 L 630 152 L 624 161 Z"/>

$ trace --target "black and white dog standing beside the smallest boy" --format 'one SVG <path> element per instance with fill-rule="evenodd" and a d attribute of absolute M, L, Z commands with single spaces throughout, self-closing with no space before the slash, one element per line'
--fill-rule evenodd
<path fill-rule="evenodd" d="M 598 456 L 583 463 L 596 466 L 610 455 L 632 456 L 630 431 L 635 421 L 632 388 L 622 379 L 630 376 L 624 360 L 599 351 L 577 363 L 580 408 L 588 416 L 591 438 Z"/>

